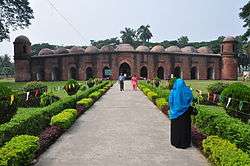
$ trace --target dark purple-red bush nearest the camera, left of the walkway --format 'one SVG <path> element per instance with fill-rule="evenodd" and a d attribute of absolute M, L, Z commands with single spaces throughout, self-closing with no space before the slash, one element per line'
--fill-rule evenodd
<path fill-rule="evenodd" d="M 42 154 L 51 144 L 53 144 L 63 133 L 63 129 L 58 126 L 47 127 L 39 136 L 39 151 L 36 155 Z"/>

